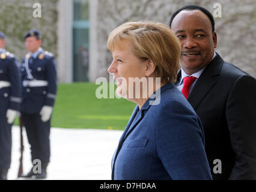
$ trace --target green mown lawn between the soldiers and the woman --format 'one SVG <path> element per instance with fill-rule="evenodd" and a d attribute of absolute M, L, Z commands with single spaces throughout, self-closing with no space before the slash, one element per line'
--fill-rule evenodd
<path fill-rule="evenodd" d="M 59 84 L 52 127 L 123 130 L 135 103 L 96 97 L 95 83 Z M 17 119 L 16 119 L 17 124 Z"/>

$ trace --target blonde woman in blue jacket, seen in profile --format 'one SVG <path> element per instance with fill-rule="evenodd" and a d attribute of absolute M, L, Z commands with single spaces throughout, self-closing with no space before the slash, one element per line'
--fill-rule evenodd
<path fill-rule="evenodd" d="M 174 86 L 180 44 L 168 26 L 124 23 L 109 35 L 108 49 L 117 94 L 137 104 L 113 156 L 112 179 L 212 179 L 200 119 Z"/>

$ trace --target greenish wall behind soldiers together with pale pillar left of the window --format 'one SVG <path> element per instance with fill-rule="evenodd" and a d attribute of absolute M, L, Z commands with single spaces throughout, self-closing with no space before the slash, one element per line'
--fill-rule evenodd
<path fill-rule="evenodd" d="M 41 17 L 33 16 L 33 5 L 41 4 Z M 72 0 L 0 0 L 0 31 L 6 35 L 6 49 L 21 60 L 26 54 L 23 36 L 29 29 L 41 32 L 43 49 L 57 61 L 58 82 L 73 80 Z"/>

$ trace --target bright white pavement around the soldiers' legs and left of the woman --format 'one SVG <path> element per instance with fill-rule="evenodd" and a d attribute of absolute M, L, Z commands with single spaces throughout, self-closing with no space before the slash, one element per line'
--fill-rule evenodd
<path fill-rule="evenodd" d="M 20 158 L 19 127 L 13 126 L 11 168 L 8 179 L 17 179 Z M 111 179 L 111 159 L 123 131 L 52 128 L 51 158 L 47 179 Z M 23 173 L 32 167 L 30 146 L 23 129 Z"/>

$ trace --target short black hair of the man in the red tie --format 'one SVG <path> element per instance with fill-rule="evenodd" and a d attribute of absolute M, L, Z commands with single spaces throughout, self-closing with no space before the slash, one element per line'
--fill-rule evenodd
<path fill-rule="evenodd" d="M 198 5 L 186 5 L 184 7 L 181 7 L 177 11 L 175 11 L 175 13 L 172 14 L 172 16 L 171 16 L 169 28 L 171 28 L 171 23 L 172 23 L 172 20 L 174 19 L 174 17 L 177 16 L 177 14 L 183 10 L 200 10 L 200 11 L 202 11 L 204 14 L 206 14 L 206 16 L 209 18 L 210 22 L 212 23 L 212 32 L 215 32 L 215 22 L 214 22 L 212 14 L 208 10 L 206 10 L 206 8 L 200 7 Z"/>

